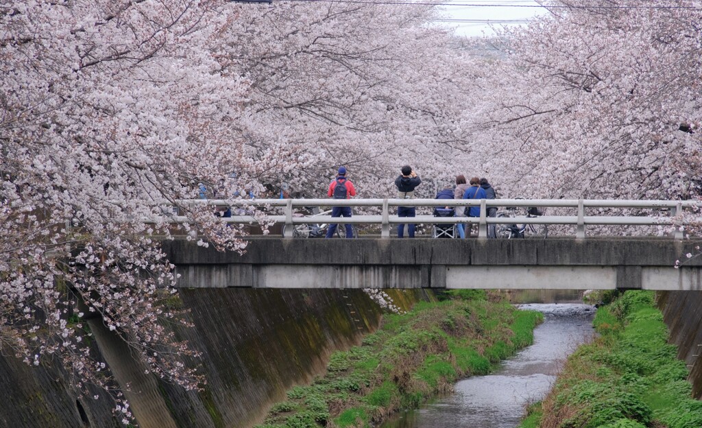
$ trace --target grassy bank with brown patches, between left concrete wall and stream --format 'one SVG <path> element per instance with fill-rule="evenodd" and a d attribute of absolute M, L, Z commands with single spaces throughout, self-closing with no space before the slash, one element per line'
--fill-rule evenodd
<path fill-rule="evenodd" d="M 484 292 L 456 295 L 464 299 L 420 302 L 404 315 L 385 315 L 377 332 L 333 354 L 323 377 L 288 391 L 258 427 L 369 427 L 450 391 L 461 377 L 490 372 L 531 344 L 543 320 L 541 313 L 486 301 Z"/>

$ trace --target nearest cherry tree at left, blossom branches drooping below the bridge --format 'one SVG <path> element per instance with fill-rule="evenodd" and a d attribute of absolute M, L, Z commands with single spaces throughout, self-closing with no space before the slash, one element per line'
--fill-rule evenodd
<path fill-rule="evenodd" d="M 198 184 L 252 186 L 259 163 L 231 127 L 248 82 L 227 74 L 221 1 L 0 2 L 0 350 L 58 357 L 78 387 L 107 387 L 84 343 L 100 317 L 150 370 L 195 388 L 192 354 L 161 322 L 173 266 L 153 235 Z M 221 247 L 210 209 L 180 206 Z M 217 232 L 217 233 L 215 233 Z"/>

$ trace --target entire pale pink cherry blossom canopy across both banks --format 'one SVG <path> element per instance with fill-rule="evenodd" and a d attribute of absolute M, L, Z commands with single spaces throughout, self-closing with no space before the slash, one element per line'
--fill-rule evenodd
<path fill-rule="evenodd" d="M 409 163 L 503 196 L 698 197 L 698 5 L 552 6 L 485 59 L 430 4 L 0 0 L 0 351 L 108 387 L 85 345 L 99 317 L 197 388 L 159 239 L 178 212 L 189 239 L 245 245 L 182 202 L 201 186 L 318 197 L 345 165 L 388 196 Z"/>

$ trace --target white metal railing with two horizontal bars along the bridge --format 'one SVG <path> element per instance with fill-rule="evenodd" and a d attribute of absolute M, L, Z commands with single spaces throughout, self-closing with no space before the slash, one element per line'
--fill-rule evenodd
<path fill-rule="evenodd" d="M 585 226 L 588 225 L 638 225 L 638 226 L 673 226 L 675 225 L 675 238 L 682 238 L 683 227 L 689 223 L 702 222 L 699 200 L 546 200 L 546 199 L 499 199 L 499 200 L 437 200 L 437 199 L 259 199 L 259 200 L 180 200 L 180 205 L 206 205 L 218 207 L 232 207 L 232 216 L 223 218 L 229 223 L 258 223 L 260 216 L 237 215 L 238 212 L 247 212 L 250 209 L 270 210 L 274 207 L 282 209 L 283 214 L 267 215 L 266 219 L 284 225 L 336 223 L 336 224 L 379 224 L 381 238 L 390 238 L 390 227 L 399 223 L 463 223 L 477 224 L 478 238 L 487 238 L 489 224 L 554 224 L 576 226 L 576 238 L 585 238 Z M 435 217 L 431 215 L 418 215 L 416 217 L 398 217 L 390 214 L 396 207 L 480 207 L 479 217 Z M 379 207 L 380 214 L 354 215 L 352 217 L 331 216 L 302 216 L 296 214 L 300 207 Z M 540 208 L 571 208 L 574 215 L 548 215 L 543 216 L 510 216 L 488 217 L 486 207 L 540 207 Z M 588 208 L 640 208 L 656 209 L 660 215 L 648 216 L 591 216 L 586 215 Z M 681 214 L 684 209 L 694 210 L 694 219 L 685 220 Z M 174 216 L 171 221 L 185 221 L 185 217 Z M 292 238 L 293 227 L 284 228 L 285 238 Z"/>

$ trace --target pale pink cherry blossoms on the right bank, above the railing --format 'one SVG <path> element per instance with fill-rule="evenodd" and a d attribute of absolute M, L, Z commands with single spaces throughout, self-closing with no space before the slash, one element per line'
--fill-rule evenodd
<path fill-rule="evenodd" d="M 699 3 L 550 5 L 479 78 L 489 174 L 512 196 L 698 197 Z"/>

